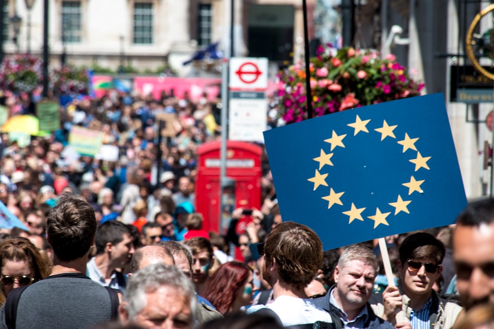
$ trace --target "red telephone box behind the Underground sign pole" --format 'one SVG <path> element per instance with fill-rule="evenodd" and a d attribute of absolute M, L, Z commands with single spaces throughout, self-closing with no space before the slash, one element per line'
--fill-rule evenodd
<path fill-rule="evenodd" d="M 223 234 L 228 223 L 220 221 L 220 197 L 225 219 L 235 208 L 259 209 L 261 206 L 262 149 L 246 142 L 227 141 L 227 179 L 220 182 L 220 147 L 221 142 L 198 147 L 196 208 L 204 216 L 203 229 Z"/>

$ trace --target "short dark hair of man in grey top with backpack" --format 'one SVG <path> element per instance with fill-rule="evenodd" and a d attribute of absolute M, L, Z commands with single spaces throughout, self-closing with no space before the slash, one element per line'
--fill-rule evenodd
<path fill-rule="evenodd" d="M 62 194 L 48 214 L 46 233 L 58 259 L 70 261 L 84 256 L 96 235 L 93 208 L 80 196 Z"/>

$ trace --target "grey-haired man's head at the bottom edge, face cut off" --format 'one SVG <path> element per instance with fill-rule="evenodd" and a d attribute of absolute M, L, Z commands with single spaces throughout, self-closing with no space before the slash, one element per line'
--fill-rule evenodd
<path fill-rule="evenodd" d="M 192 282 L 182 271 L 158 263 L 130 277 L 119 313 L 124 326 L 192 329 L 197 305 Z"/>

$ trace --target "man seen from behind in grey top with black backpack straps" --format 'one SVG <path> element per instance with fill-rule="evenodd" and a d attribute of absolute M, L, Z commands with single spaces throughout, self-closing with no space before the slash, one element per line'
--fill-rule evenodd
<path fill-rule="evenodd" d="M 0 309 L 0 328 L 87 329 L 116 320 L 117 293 L 84 275 L 95 233 L 91 206 L 80 197 L 60 196 L 47 219 L 51 275 L 9 293 Z"/>

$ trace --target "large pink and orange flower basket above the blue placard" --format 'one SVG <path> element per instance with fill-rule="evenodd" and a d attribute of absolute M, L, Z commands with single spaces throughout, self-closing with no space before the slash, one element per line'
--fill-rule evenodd
<path fill-rule="evenodd" d="M 305 66 L 280 73 L 279 114 L 287 123 L 307 119 Z M 414 81 L 394 55 L 381 59 L 376 51 L 320 46 L 310 63 L 313 116 L 419 96 L 424 84 Z"/>

